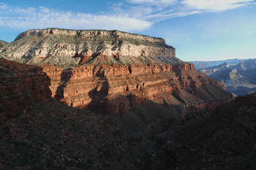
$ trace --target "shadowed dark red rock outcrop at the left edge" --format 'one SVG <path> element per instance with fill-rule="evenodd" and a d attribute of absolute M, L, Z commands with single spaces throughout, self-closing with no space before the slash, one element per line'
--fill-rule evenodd
<path fill-rule="evenodd" d="M 1 59 L 0 118 L 24 114 L 35 100 L 51 97 L 51 80 L 38 66 Z"/>

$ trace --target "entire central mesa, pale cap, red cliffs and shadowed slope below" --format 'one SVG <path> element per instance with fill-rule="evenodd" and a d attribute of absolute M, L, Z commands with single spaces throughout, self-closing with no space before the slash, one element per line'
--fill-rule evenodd
<path fill-rule="evenodd" d="M 41 65 L 52 97 L 72 107 L 102 109 L 124 134 L 150 138 L 173 120 L 231 100 L 223 82 L 176 58 L 163 38 L 36 29 L 20 34 L 0 55 Z"/>

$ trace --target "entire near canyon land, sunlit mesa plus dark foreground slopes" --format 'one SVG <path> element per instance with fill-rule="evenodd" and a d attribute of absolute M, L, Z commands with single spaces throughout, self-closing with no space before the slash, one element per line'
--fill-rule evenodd
<path fill-rule="evenodd" d="M 36 29 L 0 50 L 0 169 L 254 167 L 256 93 L 232 99 L 163 38 Z"/>

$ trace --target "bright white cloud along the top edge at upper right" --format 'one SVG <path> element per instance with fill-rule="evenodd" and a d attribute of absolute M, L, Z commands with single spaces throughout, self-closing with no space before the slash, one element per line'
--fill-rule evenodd
<path fill-rule="evenodd" d="M 184 17 L 195 13 L 204 12 L 220 12 L 224 10 L 232 10 L 243 6 L 253 4 L 254 0 L 127 0 L 128 3 L 138 8 L 152 9 L 144 15 L 137 15 L 142 19 L 152 22 L 170 19 L 173 17 Z M 255 4 L 255 3 L 254 3 Z M 123 6 L 119 6 L 122 8 Z M 130 15 L 127 12 L 127 15 Z"/>

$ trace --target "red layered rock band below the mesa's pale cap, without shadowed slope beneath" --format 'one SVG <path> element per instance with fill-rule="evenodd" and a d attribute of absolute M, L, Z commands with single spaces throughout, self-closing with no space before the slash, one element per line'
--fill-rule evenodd
<path fill-rule="evenodd" d="M 68 70 L 48 66 L 44 72 L 51 78 L 52 97 L 72 107 L 100 107 L 108 114 L 163 100 L 164 93 L 173 94 L 186 112 L 211 110 L 218 102 L 231 100 L 230 93 L 218 92 L 225 90 L 223 82 L 198 72 L 192 63 L 81 65 Z"/>

